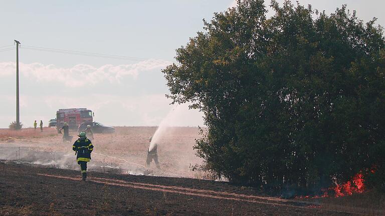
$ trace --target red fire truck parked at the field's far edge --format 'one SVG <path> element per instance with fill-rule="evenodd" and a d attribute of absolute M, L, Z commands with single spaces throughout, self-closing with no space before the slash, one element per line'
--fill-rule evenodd
<path fill-rule="evenodd" d="M 77 130 L 83 122 L 92 122 L 94 113 L 87 108 L 66 108 L 56 111 L 57 129 L 60 129 L 64 122 L 68 123 L 70 130 Z"/>

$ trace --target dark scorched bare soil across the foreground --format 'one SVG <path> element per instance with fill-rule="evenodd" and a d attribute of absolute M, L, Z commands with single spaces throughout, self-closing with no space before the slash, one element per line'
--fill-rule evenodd
<path fill-rule="evenodd" d="M 226 182 L 0 162 L 0 215 L 350 215 Z"/>

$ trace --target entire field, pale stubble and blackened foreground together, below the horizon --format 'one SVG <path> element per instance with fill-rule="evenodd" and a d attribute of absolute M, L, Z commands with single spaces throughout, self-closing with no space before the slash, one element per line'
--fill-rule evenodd
<path fill-rule="evenodd" d="M 160 169 L 144 168 L 156 127 L 95 134 L 87 182 L 72 143 L 55 128 L 0 129 L 0 215 L 383 215 L 383 194 L 281 199 L 258 188 L 214 181 L 191 166 L 202 160 L 196 127 L 168 128 Z M 77 133 L 72 132 L 74 136 Z M 208 180 L 209 179 L 209 180 Z"/>

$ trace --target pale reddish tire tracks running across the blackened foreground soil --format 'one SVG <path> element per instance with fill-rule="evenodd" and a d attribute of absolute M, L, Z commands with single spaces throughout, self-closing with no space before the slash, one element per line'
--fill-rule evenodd
<path fill-rule="evenodd" d="M 71 176 L 42 174 L 42 173 L 38 173 L 38 175 L 47 176 L 47 177 L 62 178 L 62 179 L 69 179 L 69 180 L 76 180 L 76 181 L 81 180 L 80 177 L 75 177 L 75 176 L 71 177 Z M 113 186 L 123 186 L 123 187 L 135 188 L 135 189 L 145 189 L 145 190 L 160 191 L 160 192 L 178 193 L 178 194 L 184 194 L 184 195 L 208 197 L 208 198 L 215 198 L 215 199 L 227 199 L 227 200 L 234 200 L 234 201 L 244 201 L 244 202 L 252 202 L 252 203 L 259 203 L 259 204 L 267 204 L 267 205 L 273 205 L 273 206 L 312 209 L 315 211 L 322 210 L 322 211 L 329 211 L 329 212 L 352 213 L 352 212 L 346 212 L 346 211 L 322 209 L 322 208 L 320 208 L 321 206 L 315 202 L 296 201 L 296 200 L 293 201 L 293 200 L 286 200 L 286 199 L 280 199 L 280 198 L 274 198 L 274 197 L 245 195 L 245 194 L 232 193 L 232 192 L 218 192 L 218 191 L 214 191 L 214 190 L 194 189 L 194 188 L 187 188 L 187 187 L 180 187 L 180 186 L 167 186 L 167 185 L 160 185 L 160 184 L 130 182 L 130 181 L 124 181 L 124 180 L 119 180 L 119 179 L 100 178 L 100 177 L 90 177 L 89 180 L 87 180 L 87 181 L 88 182 L 94 182 L 94 183 L 106 184 L 106 185 L 113 185 Z M 286 202 L 286 203 L 280 203 L 280 202 Z M 316 205 L 316 207 L 307 206 L 309 204 L 312 204 L 313 206 Z"/>

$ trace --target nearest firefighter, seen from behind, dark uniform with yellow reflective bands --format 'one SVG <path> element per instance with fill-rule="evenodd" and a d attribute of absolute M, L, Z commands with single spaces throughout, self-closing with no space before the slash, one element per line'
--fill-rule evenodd
<path fill-rule="evenodd" d="M 87 162 L 91 159 L 91 152 L 94 149 L 94 146 L 86 136 L 86 132 L 81 131 L 79 133 L 79 138 L 72 145 L 72 150 L 76 153 L 76 161 L 80 165 L 82 171 L 82 180 L 87 178 Z"/>

